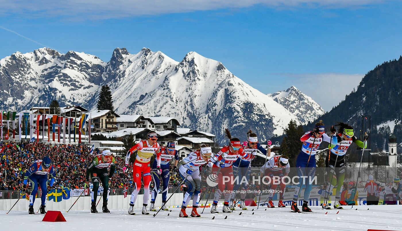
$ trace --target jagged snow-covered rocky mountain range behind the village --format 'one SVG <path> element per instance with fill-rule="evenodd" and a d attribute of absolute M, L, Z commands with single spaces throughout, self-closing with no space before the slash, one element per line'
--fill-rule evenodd
<path fill-rule="evenodd" d="M 4 104 L 28 107 L 56 99 L 61 106 L 94 109 L 100 86 L 109 84 L 117 114 L 174 117 L 193 130 L 215 134 L 220 144 L 226 143 L 224 128 L 240 139 L 252 129 L 265 141 L 281 135 L 291 119 L 315 119 L 316 112 L 309 117 L 304 112 L 320 108 L 295 88 L 287 97 L 265 95 L 196 52 L 177 62 L 147 48 L 137 54 L 116 48 L 105 63 L 85 53 L 41 48 L 1 59 L 0 80 L 0 97 L 8 99 Z"/>

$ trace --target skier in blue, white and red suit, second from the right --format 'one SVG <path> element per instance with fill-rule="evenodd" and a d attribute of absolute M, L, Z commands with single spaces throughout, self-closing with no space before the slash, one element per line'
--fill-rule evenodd
<path fill-rule="evenodd" d="M 297 198 L 299 197 L 299 190 L 301 190 L 302 184 L 306 186 L 304 190 L 304 200 L 301 210 L 304 212 L 311 212 L 307 203 L 310 198 L 310 192 L 312 188 L 312 179 L 316 173 L 316 152 L 322 141 L 330 143 L 331 147 L 336 145 L 336 131 L 332 132 L 332 139 L 325 134 L 324 124 L 322 121 L 316 123 L 316 127 L 313 131 L 308 131 L 300 138 L 303 142 L 301 146 L 301 151 L 297 155 L 296 168 L 297 174 L 299 175 L 299 185 L 295 188 L 295 193 L 293 194 L 293 200 L 291 204 L 291 210 L 295 212 L 300 212 L 297 208 Z M 312 158 L 310 158 L 312 157 Z M 306 178 L 305 175 L 306 174 Z"/>

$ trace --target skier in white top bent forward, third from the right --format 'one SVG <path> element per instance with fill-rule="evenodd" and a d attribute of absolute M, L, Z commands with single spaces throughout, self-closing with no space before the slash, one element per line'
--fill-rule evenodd
<path fill-rule="evenodd" d="M 268 191 L 269 191 L 269 200 L 268 200 L 268 208 L 275 208 L 272 199 L 274 192 L 277 191 L 279 192 L 279 202 L 278 202 L 278 207 L 284 208 L 286 207 L 285 204 L 283 204 L 282 200 L 284 198 L 285 194 L 285 183 L 283 182 L 282 178 L 284 176 L 287 176 L 290 172 L 290 165 L 289 165 L 289 157 L 287 155 L 280 155 L 280 156 L 274 156 L 269 161 L 267 161 L 267 164 L 261 166 L 260 172 L 263 174 L 263 176 L 268 176 L 271 180 L 271 184 L 268 186 Z M 276 184 L 274 182 L 274 177 L 277 176 L 279 177 L 279 184 Z M 279 190 L 276 190 L 279 185 Z"/>

